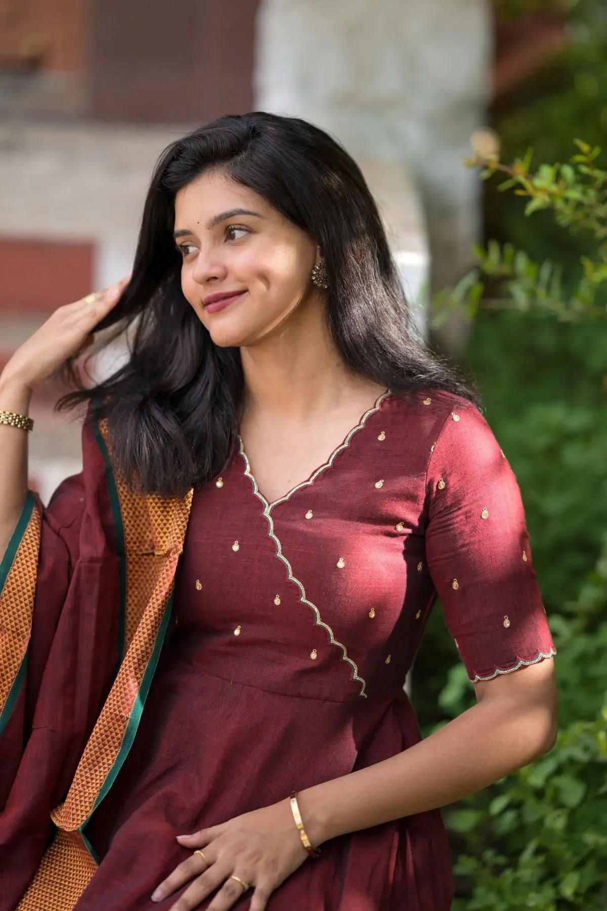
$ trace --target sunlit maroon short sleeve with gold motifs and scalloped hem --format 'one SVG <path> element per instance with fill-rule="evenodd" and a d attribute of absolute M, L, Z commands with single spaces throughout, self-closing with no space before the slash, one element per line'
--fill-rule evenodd
<path fill-rule="evenodd" d="M 521 491 L 476 406 L 453 404 L 430 455 L 426 558 L 470 681 L 556 654 Z"/>

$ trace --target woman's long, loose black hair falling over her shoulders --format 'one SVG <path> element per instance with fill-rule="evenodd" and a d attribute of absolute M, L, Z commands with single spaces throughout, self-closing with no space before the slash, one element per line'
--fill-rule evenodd
<path fill-rule="evenodd" d="M 106 418 L 112 461 L 131 489 L 182 496 L 228 463 L 238 442 L 244 379 L 238 348 L 219 347 L 181 291 L 173 240 L 178 189 L 207 169 L 255 190 L 319 246 L 328 274 L 329 331 L 352 371 L 395 394 L 478 393 L 417 332 L 379 211 L 356 162 L 306 120 L 264 111 L 213 120 L 172 142 L 157 160 L 131 280 L 96 331 L 104 345 L 129 329 L 130 356 L 56 405 L 88 402 Z M 98 349 L 97 349 L 98 350 Z"/>

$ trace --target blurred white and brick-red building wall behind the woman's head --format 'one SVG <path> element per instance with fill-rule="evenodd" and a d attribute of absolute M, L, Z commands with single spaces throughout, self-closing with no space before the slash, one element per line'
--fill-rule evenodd
<path fill-rule="evenodd" d="M 423 326 L 430 268 L 435 284 L 456 277 L 480 230 L 460 160 L 491 46 L 482 0 L 378 0 L 370 16 L 363 0 L 3 0 L 0 368 L 56 306 L 128 271 L 162 148 L 252 108 L 309 118 L 359 160 Z M 79 470 L 58 392 L 32 405 L 43 499 Z"/>

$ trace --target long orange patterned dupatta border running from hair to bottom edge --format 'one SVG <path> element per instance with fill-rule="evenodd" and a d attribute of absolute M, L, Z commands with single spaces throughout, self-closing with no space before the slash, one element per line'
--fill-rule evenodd
<path fill-rule="evenodd" d="M 107 442 L 104 422 L 100 429 Z M 126 655 L 86 743 L 66 800 L 51 814 L 59 832 L 46 850 L 19 905 L 20 911 L 72 908 L 95 873 L 96 863 L 76 830 L 92 813 L 123 746 L 183 550 L 193 489 L 182 498 L 167 498 L 132 494 L 119 476 L 115 476 L 115 481 L 125 535 Z"/>

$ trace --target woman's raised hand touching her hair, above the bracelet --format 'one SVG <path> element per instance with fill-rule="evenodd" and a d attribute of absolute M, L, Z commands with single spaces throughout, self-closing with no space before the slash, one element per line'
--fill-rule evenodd
<path fill-rule="evenodd" d="M 86 302 L 83 297 L 79 301 L 58 307 L 5 364 L 2 371 L 3 383 L 25 385 L 34 391 L 68 357 L 84 351 L 94 342 L 93 329 L 96 324 L 116 306 L 128 281 L 130 275 L 108 285 L 103 291 L 96 292 L 92 302 Z"/>

